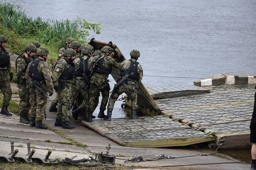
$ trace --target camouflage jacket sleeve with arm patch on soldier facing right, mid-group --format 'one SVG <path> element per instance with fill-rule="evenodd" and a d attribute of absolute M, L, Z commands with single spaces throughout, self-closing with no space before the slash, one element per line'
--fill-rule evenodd
<path fill-rule="evenodd" d="M 59 85 L 59 78 L 62 74 L 63 71 L 68 69 L 70 66 L 68 59 L 63 57 L 59 61 L 57 61 L 56 66 L 54 68 L 53 74 L 52 74 L 52 79 L 53 79 L 53 86 L 58 86 Z"/>

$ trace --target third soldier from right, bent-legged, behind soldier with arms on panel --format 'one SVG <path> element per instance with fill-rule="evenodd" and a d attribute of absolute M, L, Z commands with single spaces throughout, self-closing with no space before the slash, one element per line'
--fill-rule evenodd
<path fill-rule="evenodd" d="M 82 98 L 84 99 L 83 103 L 76 110 L 72 111 L 72 116 L 75 120 L 77 120 L 78 114 L 81 113 L 83 110 L 86 110 L 87 112 L 90 89 L 90 72 L 88 68 L 88 60 L 90 59 L 92 51 L 92 47 L 83 46 L 81 50 L 82 55 L 74 60 L 76 72 L 74 74 L 74 83 L 70 86 L 69 90 L 71 106 L 74 104 L 79 94 L 81 94 Z M 86 112 L 84 112 L 83 119 L 86 118 Z"/>

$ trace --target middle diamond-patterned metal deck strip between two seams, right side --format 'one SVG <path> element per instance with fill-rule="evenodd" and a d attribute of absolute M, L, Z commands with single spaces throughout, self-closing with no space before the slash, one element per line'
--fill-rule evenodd
<path fill-rule="evenodd" d="M 205 109 L 186 110 L 172 112 L 172 118 L 184 119 L 182 122 L 197 124 L 226 123 L 242 119 L 249 119 L 252 116 L 253 103 L 227 105 Z"/>

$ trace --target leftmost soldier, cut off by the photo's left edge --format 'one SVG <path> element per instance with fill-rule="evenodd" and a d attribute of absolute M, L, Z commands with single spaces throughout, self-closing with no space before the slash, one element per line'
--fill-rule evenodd
<path fill-rule="evenodd" d="M 5 48 L 7 41 L 4 35 L 0 35 L 0 89 L 4 95 L 3 107 L 0 113 L 5 116 L 12 116 L 12 113 L 9 113 L 7 109 L 12 97 L 10 81 L 13 78 L 10 56 L 7 48 Z M 8 72 L 10 79 L 8 78 Z"/>

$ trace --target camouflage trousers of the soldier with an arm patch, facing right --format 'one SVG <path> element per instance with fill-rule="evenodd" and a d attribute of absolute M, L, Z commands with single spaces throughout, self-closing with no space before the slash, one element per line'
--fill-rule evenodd
<path fill-rule="evenodd" d="M 63 89 L 59 86 L 58 96 L 59 96 L 59 106 L 56 118 L 62 118 L 62 121 L 69 120 L 70 113 L 70 97 L 69 97 L 69 86 L 70 81 L 66 81 Z"/>

